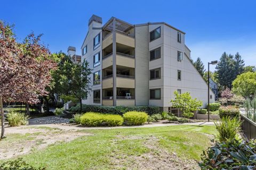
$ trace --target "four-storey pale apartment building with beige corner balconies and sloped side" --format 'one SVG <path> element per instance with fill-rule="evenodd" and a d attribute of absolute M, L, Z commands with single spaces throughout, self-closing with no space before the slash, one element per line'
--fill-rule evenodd
<path fill-rule="evenodd" d="M 168 111 L 174 91 L 207 103 L 207 84 L 190 61 L 185 32 L 165 22 L 130 24 L 112 17 L 102 25 L 92 15 L 81 52 L 93 69 L 84 104 Z"/>

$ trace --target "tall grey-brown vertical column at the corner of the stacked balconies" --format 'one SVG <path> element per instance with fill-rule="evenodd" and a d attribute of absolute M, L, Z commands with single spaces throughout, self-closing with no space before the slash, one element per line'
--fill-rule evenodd
<path fill-rule="evenodd" d="M 116 19 L 113 20 L 113 106 L 116 106 Z"/>

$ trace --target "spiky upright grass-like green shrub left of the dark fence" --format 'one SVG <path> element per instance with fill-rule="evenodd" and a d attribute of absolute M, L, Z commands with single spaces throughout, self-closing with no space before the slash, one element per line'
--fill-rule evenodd
<path fill-rule="evenodd" d="M 237 138 L 242 122 L 238 120 L 238 117 L 225 116 L 221 118 L 219 123 L 214 122 L 214 124 L 218 131 L 217 139 L 220 142 L 226 142 Z"/>

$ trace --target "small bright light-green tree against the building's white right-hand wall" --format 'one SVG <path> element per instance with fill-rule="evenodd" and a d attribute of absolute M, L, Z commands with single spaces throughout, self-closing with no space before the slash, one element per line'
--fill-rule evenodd
<path fill-rule="evenodd" d="M 203 103 L 196 98 L 192 98 L 189 92 L 179 94 L 178 91 L 174 91 L 175 98 L 171 99 L 170 103 L 174 108 L 180 108 L 182 116 L 189 118 L 193 116 L 193 112 L 196 111 L 199 107 L 202 107 Z"/>

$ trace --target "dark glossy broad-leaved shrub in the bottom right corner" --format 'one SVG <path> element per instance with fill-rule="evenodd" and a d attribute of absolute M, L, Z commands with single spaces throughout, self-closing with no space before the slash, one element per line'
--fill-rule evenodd
<path fill-rule="evenodd" d="M 217 142 L 201 156 L 201 169 L 255 169 L 255 141 Z"/>

